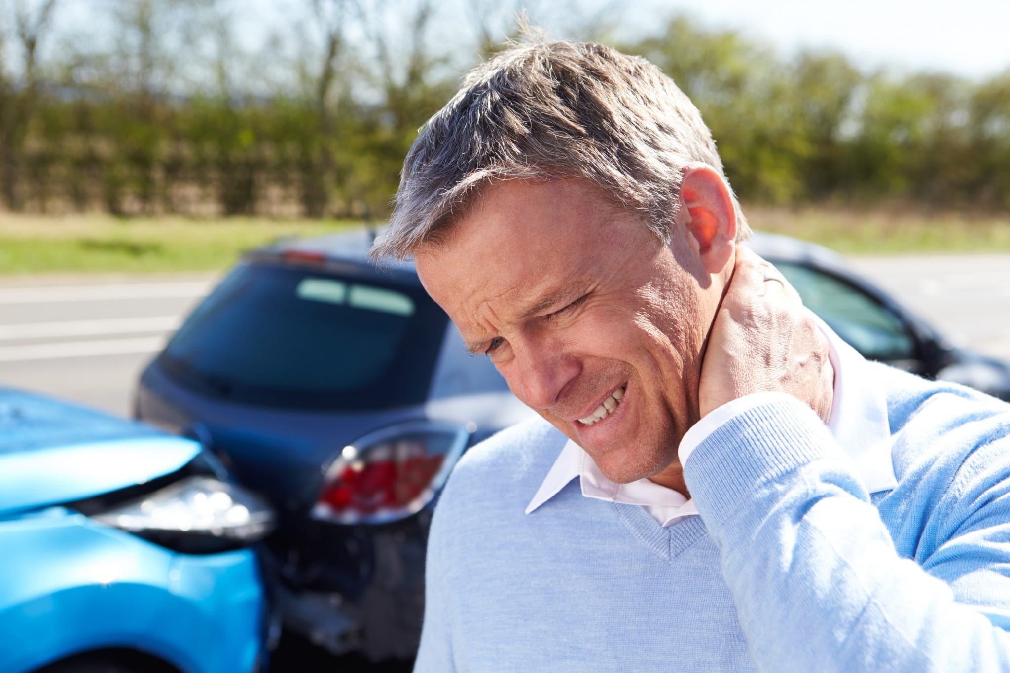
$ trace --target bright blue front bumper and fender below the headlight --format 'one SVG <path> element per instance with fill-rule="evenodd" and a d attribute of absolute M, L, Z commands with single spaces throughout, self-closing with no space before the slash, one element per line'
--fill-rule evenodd
<path fill-rule="evenodd" d="M 0 671 L 105 648 L 192 673 L 254 670 L 265 607 L 250 549 L 176 554 L 66 508 L 0 519 L 0 573 L 17 578 L 0 582 Z"/>

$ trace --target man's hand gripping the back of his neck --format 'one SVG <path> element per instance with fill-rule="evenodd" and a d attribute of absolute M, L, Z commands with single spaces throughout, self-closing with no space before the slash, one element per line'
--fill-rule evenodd
<path fill-rule="evenodd" d="M 827 339 L 813 314 L 772 264 L 737 246 L 702 362 L 701 416 L 752 392 L 778 391 L 810 405 L 827 423 L 833 385 Z"/>

